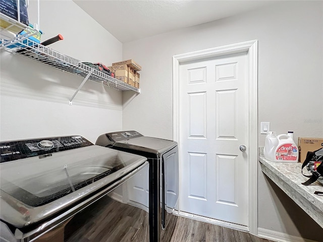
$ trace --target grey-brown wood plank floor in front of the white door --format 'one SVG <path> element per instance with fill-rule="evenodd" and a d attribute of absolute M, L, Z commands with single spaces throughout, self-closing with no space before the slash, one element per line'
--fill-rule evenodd
<path fill-rule="evenodd" d="M 171 242 L 275 242 L 247 232 L 178 217 Z"/>

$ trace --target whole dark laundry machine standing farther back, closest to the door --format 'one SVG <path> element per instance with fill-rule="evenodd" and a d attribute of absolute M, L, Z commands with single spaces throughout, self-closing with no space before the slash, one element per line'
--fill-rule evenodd
<path fill-rule="evenodd" d="M 149 200 L 149 238 L 150 242 L 168 242 L 177 220 L 174 215 L 179 194 L 177 142 L 146 137 L 136 131 L 122 131 L 100 135 L 95 144 L 147 158 L 149 191 L 145 193 Z M 134 188 L 142 186 L 134 184 Z M 140 198 L 133 198 L 136 199 Z"/>

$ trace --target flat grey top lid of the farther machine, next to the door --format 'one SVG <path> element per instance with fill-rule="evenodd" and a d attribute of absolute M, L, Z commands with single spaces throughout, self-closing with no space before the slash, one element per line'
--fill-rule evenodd
<path fill-rule="evenodd" d="M 177 142 L 153 137 L 138 137 L 116 142 L 114 146 L 139 150 L 155 154 L 163 154 L 177 146 Z"/>

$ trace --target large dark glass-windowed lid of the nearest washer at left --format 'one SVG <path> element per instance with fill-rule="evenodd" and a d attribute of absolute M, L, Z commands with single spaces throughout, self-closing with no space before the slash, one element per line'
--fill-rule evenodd
<path fill-rule="evenodd" d="M 91 145 L 0 164 L 1 219 L 23 227 L 115 183 L 145 157 Z"/>

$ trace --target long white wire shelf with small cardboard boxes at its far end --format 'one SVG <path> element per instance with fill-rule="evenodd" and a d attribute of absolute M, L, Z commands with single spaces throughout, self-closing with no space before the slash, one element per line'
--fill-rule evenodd
<path fill-rule="evenodd" d="M 23 41 L 15 43 L 11 42 L 10 48 L 14 54 L 19 54 L 61 71 L 87 78 L 87 80 L 100 83 L 104 86 L 121 91 L 133 90 L 140 93 L 139 88 L 133 87 L 125 82 L 122 82 L 99 70 L 81 63 L 78 59 L 38 44 L 30 39 L 24 39 Z"/>

